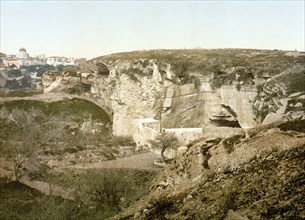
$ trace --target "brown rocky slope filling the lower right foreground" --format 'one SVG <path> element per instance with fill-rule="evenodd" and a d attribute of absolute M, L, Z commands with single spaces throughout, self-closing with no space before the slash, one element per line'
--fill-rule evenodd
<path fill-rule="evenodd" d="M 198 140 L 112 219 L 304 219 L 304 128 L 302 120 Z"/>

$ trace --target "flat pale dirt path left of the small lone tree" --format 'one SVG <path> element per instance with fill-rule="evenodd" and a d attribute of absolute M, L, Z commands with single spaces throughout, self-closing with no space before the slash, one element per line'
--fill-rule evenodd
<path fill-rule="evenodd" d="M 101 161 L 95 163 L 83 163 L 67 166 L 69 169 L 103 169 L 103 168 L 128 168 L 128 169 L 146 169 L 160 170 L 153 165 L 159 155 L 147 152 L 134 154 L 129 157 L 118 158 L 116 160 Z"/>

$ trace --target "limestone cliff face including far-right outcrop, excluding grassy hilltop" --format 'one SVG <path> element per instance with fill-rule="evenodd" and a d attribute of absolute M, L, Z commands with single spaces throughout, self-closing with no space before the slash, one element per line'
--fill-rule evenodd
<path fill-rule="evenodd" d="M 267 81 L 251 77 L 249 81 L 249 73 L 245 73 L 248 78 L 239 74 L 215 87 L 214 72 L 187 71 L 175 62 L 129 58 L 128 54 L 123 58 L 105 56 L 88 61 L 78 72 L 46 74 L 44 91 L 98 103 L 111 114 L 114 135 L 131 135 L 140 145 L 147 144 L 143 137 L 152 138 L 161 128 L 203 128 L 203 136 L 226 137 L 224 128 L 234 127 L 231 130 L 238 133 L 237 128 L 269 124 L 292 113 L 293 118 L 304 117 L 304 67 Z M 233 70 L 221 74 L 229 75 Z M 145 119 L 157 120 L 158 126 L 147 127 Z"/>

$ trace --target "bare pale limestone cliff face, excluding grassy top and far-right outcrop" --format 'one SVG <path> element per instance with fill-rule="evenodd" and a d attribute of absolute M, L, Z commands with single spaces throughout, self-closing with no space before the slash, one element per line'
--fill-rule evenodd
<path fill-rule="evenodd" d="M 87 65 L 91 72 L 46 74 L 44 91 L 73 93 L 80 85 L 87 85 L 89 89 L 81 90 L 77 95 L 112 112 L 114 135 L 131 135 L 140 144 L 146 144 L 141 135 L 152 138 L 160 127 L 202 128 L 210 125 L 211 118 L 226 111 L 222 105 L 233 109 L 234 116 L 232 112 L 227 114 L 238 120 L 242 127 L 254 126 L 251 115 L 254 91 L 237 91 L 234 87 L 211 90 L 207 77 L 201 79 L 204 86 L 199 88 L 194 84 L 175 85 L 169 81 L 175 76 L 170 64 L 157 65 L 154 60 L 148 61 L 145 67 L 131 61 L 106 64 L 108 75 L 98 74 L 98 67 L 93 68 L 93 64 Z M 139 123 L 139 120 L 149 118 L 160 121 L 154 132 Z"/>

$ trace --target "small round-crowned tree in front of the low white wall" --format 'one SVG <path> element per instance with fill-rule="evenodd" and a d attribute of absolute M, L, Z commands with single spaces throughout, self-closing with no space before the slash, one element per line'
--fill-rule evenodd
<path fill-rule="evenodd" d="M 161 149 L 162 160 L 165 161 L 164 152 L 167 148 L 177 148 L 179 146 L 178 138 L 172 133 L 161 133 L 157 135 L 155 140 L 150 140 L 149 143 L 154 149 Z"/>

